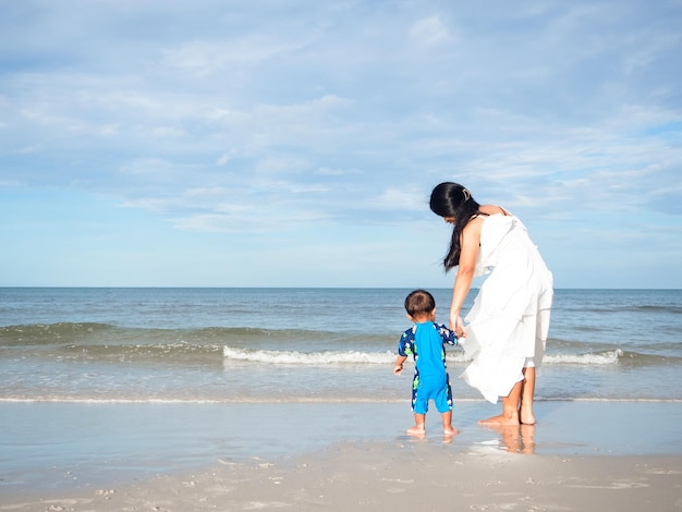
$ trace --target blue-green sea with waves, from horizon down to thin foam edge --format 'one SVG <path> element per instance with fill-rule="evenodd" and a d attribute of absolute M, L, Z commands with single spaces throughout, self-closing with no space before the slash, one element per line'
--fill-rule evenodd
<path fill-rule="evenodd" d="M 404 401 L 409 292 L 3 288 L 0 403 Z M 480 398 L 466 364 L 449 348 L 455 401 Z M 682 291 L 557 290 L 536 397 L 682 400 Z"/>

